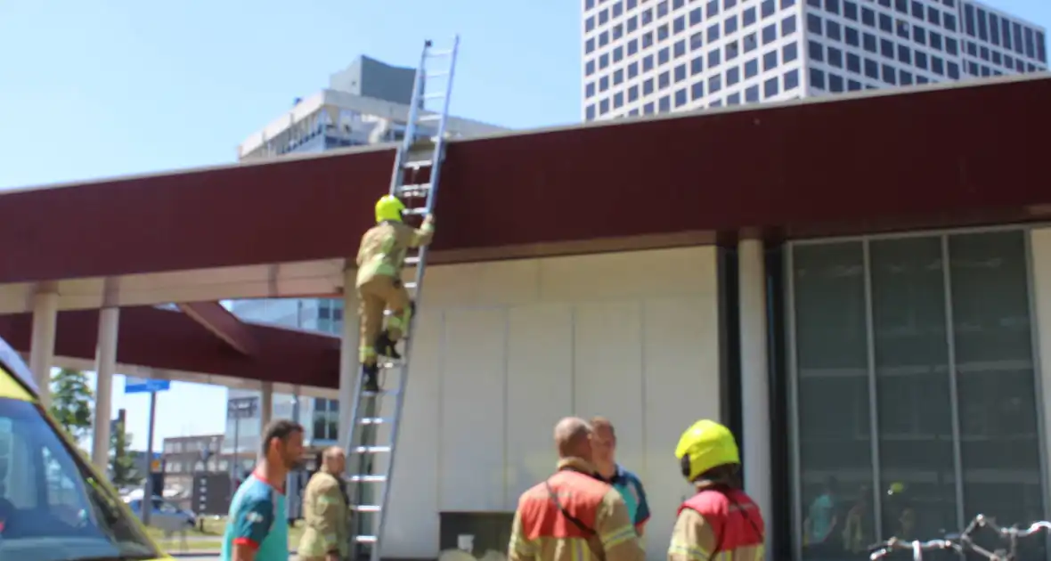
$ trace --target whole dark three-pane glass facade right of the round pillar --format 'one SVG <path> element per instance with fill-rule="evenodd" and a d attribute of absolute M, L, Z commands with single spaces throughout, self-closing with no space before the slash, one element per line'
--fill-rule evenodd
<path fill-rule="evenodd" d="M 877 541 L 980 513 L 1044 518 L 1025 232 L 788 251 L 802 558 L 867 559 Z M 1030 545 L 1025 558 L 1045 558 Z"/>

